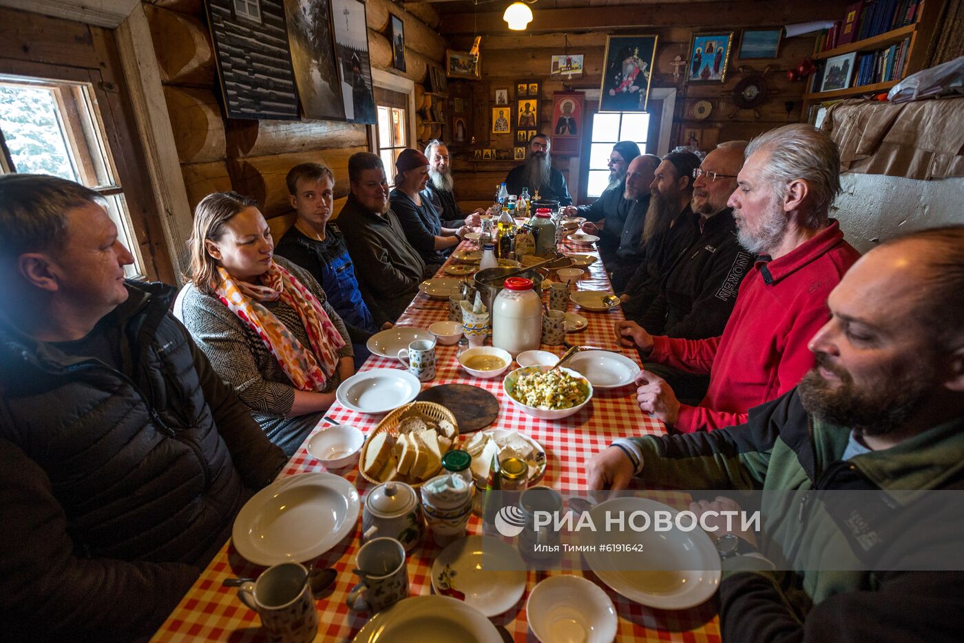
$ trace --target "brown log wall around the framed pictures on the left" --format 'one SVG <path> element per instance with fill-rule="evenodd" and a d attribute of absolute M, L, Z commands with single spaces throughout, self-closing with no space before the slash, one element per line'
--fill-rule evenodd
<path fill-rule="evenodd" d="M 335 213 L 340 210 L 348 194 L 348 157 L 368 150 L 368 127 L 226 119 L 203 2 L 144 0 L 144 6 L 191 208 L 211 192 L 236 190 L 257 199 L 280 238 L 294 220 L 284 177 L 292 166 L 312 161 L 335 173 Z M 404 72 L 390 69 L 390 14 L 405 23 Z M 389 0 L 367 0 L 366 17 L 372 68 L 411 78 L 423 94 L 429 65 L 442 66 L 444 57 L 439 14 L 429 3 L 402 9 Z"/>

